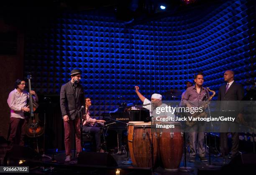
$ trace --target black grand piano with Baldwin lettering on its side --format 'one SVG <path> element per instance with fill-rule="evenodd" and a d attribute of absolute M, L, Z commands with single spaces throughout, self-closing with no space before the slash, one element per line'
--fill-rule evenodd
<path fill-rule="evenodd" d="M 115 130 L 118 134 L 118 154 L 121 154 L 122 132 L 127 129 L 128 122 L 150 122 L 148 109 L 143 107 L 128 107 L 126 103 L 122 103 L 114 112 L 102 113 L 102 117 L 106 120 L 105 125 L 108 126 L 108 129 Z"/>

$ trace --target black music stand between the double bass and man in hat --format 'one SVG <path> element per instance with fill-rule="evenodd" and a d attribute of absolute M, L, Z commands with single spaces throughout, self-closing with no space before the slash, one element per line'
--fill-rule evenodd
<path fill-rule="evenodd" d="M 38 108 L 36 108 L 36 110 L 34 111 L 34 114 L 42 114 L 42 113 L 44 114 L 44 141 L 43 141 L 43 155 L 41 156 L 49 159 L 51 159 L 52 157 L 45 155 L 45 125 L 46 125 L 46 109 L 49 109 L 50 104 L 51 104 L 51 101 L 49 101 L 49 103 L 40 103 Z"/>

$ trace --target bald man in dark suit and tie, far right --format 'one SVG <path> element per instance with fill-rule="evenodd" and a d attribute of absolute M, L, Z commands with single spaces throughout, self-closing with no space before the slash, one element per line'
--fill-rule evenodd
<path fill-rule="evenodd" d="M 244 89 L 241 84 L 238 84 L 234 81 L 234 72 L 227 70 L 224 73 L 224 81 L 227 82 L 223 86 L 220 86 L 218 92 L 218 101 L 236 101 L 242 100 L 244 96 Z M 221 105 L 223 108 L 227 108 L 225 105 Z M 230 107 L 228 107 L 230 109 Z M 232 108 L 232 107 L 231 107 Z M 221 109 L 223 110 L 223 109 Z M 224 109 L 228 110 L 228 109 Z M 242 114 L 239 113 L 237 119 L 241 120 Z M 238 152 L 238 133 L 233 132 L 232 134 L 232 147 L 231 155 L 229 156 L 232 159 Z M 228 137 L 226 132 L 220 132 L 220 156 L 225 156 L 228 154 Z"/>

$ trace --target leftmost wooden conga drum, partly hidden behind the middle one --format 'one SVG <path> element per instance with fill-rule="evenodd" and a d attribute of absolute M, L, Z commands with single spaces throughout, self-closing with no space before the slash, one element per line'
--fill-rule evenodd
<path fill-rule="evenodd" d="M 128 127 L 127 127 L 128 149 L 130 152 L 131 160 L 133 162 L 133 166 L 137 166 L 137 163 L 133 154 L 133 125 L 136 123 L 144 123 L 144 122 L 138 122 L 138 121 L 128 122 Z"/>

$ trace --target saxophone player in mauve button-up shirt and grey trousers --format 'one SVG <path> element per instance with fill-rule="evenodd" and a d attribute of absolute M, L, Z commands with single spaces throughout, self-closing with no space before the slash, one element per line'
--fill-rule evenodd
<path fill-rule="evenodd" d="M 202 86 L 204 83 L 204 76 L 202 73 L 198 73 L 195 76 L 195 85 L 187 88 L 183 99 L 182 106 L 185 107 L 202 107 L 204 104 L 204 100 L 209 97 L 209 91 Z M 204 144 L 204 130 L 205 126 L 203 124 L 191 127 L 193 132 L 189 132 L 189 162 L 195 162 L 196 157 L 196 145 L 197 145 L 197 153 L 200 157 L 201 161 L 207 161 L 205 158 L 205 144 Z"/>

